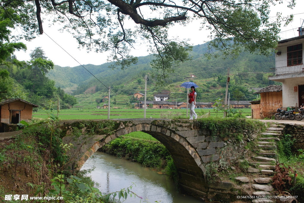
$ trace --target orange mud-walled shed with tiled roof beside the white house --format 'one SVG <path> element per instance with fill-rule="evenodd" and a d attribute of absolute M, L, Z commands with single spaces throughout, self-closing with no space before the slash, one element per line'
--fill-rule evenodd
<path fill-rule="evenodd" d="M 282 85 L 269 85 L 255 92 L 254 94 L 261 95 L 260 104 L 255 104 L 260 105 L 260 108 L 253 108 L 254 119 L 271 118 L 273 115 L 275 115 L 276 110 L 282 107 Z M 259 111 L 259 113 L 255 111 Z"/>

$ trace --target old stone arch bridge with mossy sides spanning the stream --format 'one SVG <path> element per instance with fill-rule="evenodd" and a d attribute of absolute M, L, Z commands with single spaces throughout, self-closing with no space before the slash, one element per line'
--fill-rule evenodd
<path fill-rule="evenodd" d="M 170 151 L 178 169 L 183 191 L 199 198 L 231 200 L 237 191 L 231 183 L 208 181 L 215 168 L 227 168 L 241 158 L 247 141 L 256 137 L 245 130 L 242 140 L 233 136 L 211 136 L 210 130 L 201 129 L 199 121 L 184 119 L 117 119 L 117 120 L 63 120 L 60 128 L 63 142 L 72 143 L 68 154 L 78 167 L 109 141 L 131 132 L 142 131 L 159 140 Z M 226 129 L 236 134 L 235 129 Z"/>

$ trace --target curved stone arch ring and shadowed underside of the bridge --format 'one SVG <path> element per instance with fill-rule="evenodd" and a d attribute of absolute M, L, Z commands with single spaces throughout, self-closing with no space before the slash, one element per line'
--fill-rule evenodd
<path fill-rule="evenodd" d="M 150 134 L 164 144 L 177 167 L 179 183 L 185 190 L 191 190 L 193 185 L 197 185 L 195 190 L 206 191 L 207 187 L 204 178 L 205 167 L 195 148 L 185 137 L 177 134 L 174 130 L 155 124 L 139 123 L 132 126 L 124 126 L 113 131 L 112 134 L 108 134 L 101 140 L 95 142 L 80 158 L 78 163 L 82 166 L 90 156 L 111 140 L 136 131 Z"/>

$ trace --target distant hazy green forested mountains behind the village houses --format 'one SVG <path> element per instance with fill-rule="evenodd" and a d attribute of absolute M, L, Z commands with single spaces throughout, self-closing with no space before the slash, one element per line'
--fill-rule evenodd
<path fill-rule="evenodd" d="M 245 94 L 241 100 L 253 100 L 256 95 L 252 95 L 248 90 L 250 88 L 265 87 L 274 84 L 268 80 L 271 75 L 271 68 L 275 67 L 274 56 L 262 56 L 241 52 L 237 58 L 222 56 L 208 59 L 205 57 L 207 52 L 207 44 L 197 45 L 193 47 L 190 55 L 192 60 L 180 63 L 174 67 L 175 73 L 171 73 L 166 83 L 168 87 L 160 87 L 172 91 L 184 91 L 184 89 L 174 89 L 174 86 L 185 82 L 184 77 L 194 74 L 194 82 L 200 84 L 197 90 L 202 95 L 204 102 L 214 101 L 221 94 L 225 93 L 226 75 L 228 68 L 230 69 L 230 86 L 229 91 L 240 90 Z M 150 61 L 154 56 L 139 57 L 138 63 L 131 67 L 121 69 L 109 69 L 110 63 L 104 63 L 99 66 L 92 64 L 84 65 L 92 74 L 94 74 L 105 86 L 111 86 L 111 89 L 123 90 L 142 90 L 144 88 L 144 76 L 150 75 L 155 71 L 150 66 Z M 82 66 L 76 67 L 60 67 L 55 66 L 54 69 L 47 73 L 47 76 L 56 81 L 56 86 L 60 86 L 73 95 L 79 95 L 91 88 L 93 92 L 107 92 L 107 88 L 96 80 Z M 150 77 L 148 82 L 149 91 L 160 91 L 155 86 L 155 81 Z M 171 86 L 170 86 L 171 85 Z M 73 88 L 71 88 L 73 87 Z M 116 90 L 115 92 L 124 94 L 133 94 L 132 91 Z M 232 99 L 233 99 L 233 95 Z M 173 96 L 174 97 L 174 96 Z M 172 98 L 173 98 L 172 97 Z"/>

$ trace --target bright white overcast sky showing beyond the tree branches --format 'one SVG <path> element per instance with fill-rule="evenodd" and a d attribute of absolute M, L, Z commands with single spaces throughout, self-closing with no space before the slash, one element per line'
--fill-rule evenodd
<path fill-rule="evenodd" d="M 282 12 L 283 16 L 290 14 L 296 14 L 294 16 L 293 22 L 291 22 L 287 27 L 282 27 L 281 39 L 292 38 L 298 36 L 296 28 L 300 27 L 304 19 L 304 1 L 296 0 L 296 6 L 293 9 L 287 8 L 287 1 L 283 0 L 283 4 L 276 5 L 271 7 L 271 13 L 269 16 L 275 16 L 277 12 Z M 16 51 L 15 55 L 19 60 L 29 60 L 29 54 L 31 50 L 34 50 L 36 47 L 41 47 L 45 55 L 51 59 L 55 65 L 58 66 L 79 66 L 80 64 L 94 64 L 100 65 L 107 62 L 107 58 L 110 53 L 96 53 L 96 52 L 87 52 L 86 49 L 78 49 L 78 43 L 73 36 L 66 32 L 57 31 L 56 27 L 49 27 L 48 22 L 43 23 L 44 34 L 36 37 L 32 41 L 24 41 L 27 46 L 27 51 Z M 287 32 L 283 32 L 287 31 Z M 174 27 L 169 29 L 169 36 L 172 38 L 179 39 L 190 39 L 189 43 L 192 45 L 203 44 L 209 39 L 207 38 L 210 31 L 208 30 L 199 30 L 199 22 L 192 22 L 186 27 L 180 25 L 174 25 Z M 53 41 L 54 40 L 54 41 Z M 60 48 L 60 45 L 62 48 Z M 69 56 L 69 54 L 71 56 Z M 133 56 L 147 56 L 147 47 L 145 44 L 136 45 L 135 49 L 131 51 Z M 76 61 L 76 60 L 77 61 Z"/>

